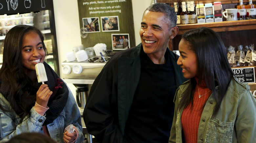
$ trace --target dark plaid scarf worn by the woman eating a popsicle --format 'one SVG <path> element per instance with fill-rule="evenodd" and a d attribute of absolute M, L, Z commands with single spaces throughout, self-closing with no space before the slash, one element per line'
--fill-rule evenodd
<path fill-rule="evenodd" d="M 44 62 L 45 71 L 47 74 L 48 81 L 45 84 L 48 85 L 49 89 L 53 91 L 47 106 L 49 109 L 46 111 L 46 120 L 43 125 L 47 125 L 53 122 L 59 114 L 63 111 L 67 100 L 69 90 L 66 84 L 63 84 L 63 81 L 57 75 L 53 69 Z M 25 98 L 21 98 L 21 102 L 28 103 L 28 109 L 31 109 L 35 104 L 36 92 L 42 83 L 36 84 L 32 89 L 30 89 L 30 95 L 27 95 Z M 4 95 L 4 97 L 9 101 L 10 94 L 10 85 L 7 83 L 1 83 L 0 92 Z M 19 106 L 19 105 L 14 105 Z M 17 115 L 20 115 L 21 110 L 15 111 Z"/>

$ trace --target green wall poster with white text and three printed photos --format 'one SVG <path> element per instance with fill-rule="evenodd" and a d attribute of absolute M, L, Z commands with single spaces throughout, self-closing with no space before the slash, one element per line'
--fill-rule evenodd
<path fill-rule="evenodd" d="M 104 43 L 108 50 L 125 50 L 136 46 L 131 0 L 77 2 L 84 47 Z"/>

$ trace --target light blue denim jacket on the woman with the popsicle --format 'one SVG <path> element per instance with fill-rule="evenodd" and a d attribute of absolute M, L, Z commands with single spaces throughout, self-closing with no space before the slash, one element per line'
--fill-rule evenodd
<path fill-rule="evenodd" d="M 0 93 L 0 104 L 8 109 L 10 103 L 6 98 Z M 20 117 L 14 111 L 5 112 L 0 109 L 1 122 L 2 122 L 2 132 L 3 140 L 8 140 L 11 137 L 24 133 L 24 132 L 39 132 L 44 134 L 42 125 L 44 123 L 45 115 L 41 116 L 38 114 L 34 107 L 30 110 L 31 116 L 29 119 L 24 120 L 19 124 Z M 76 105 L 75 98 L 72 95 L 72 92 L 69 89 L 69 97 L 66 106 L 63 111 L 60 113 L 53 123 L 48 124 L 47 128 L 51 138 L 58 143 L 64 143 L 63 141 L 63 132 L 64 129 L 73 124 L 79 132 L 79 136 L 76 139 L 75 143 L 81 143 L 84 141 L 84 136 L 82 134 L 82 123 L 81 123 L 81 114 Z"/>

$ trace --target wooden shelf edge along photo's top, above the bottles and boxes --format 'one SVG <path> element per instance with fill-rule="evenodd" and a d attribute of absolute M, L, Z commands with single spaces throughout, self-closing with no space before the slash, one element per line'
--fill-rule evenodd
<path fill-rule="evenodd" d="M 181 2 L 186 2 L 191 0 L 157 0 L 158 3 L 174 3 L 178 2 L 179 4 Z M 256 2 L 256 0 L 252 0 L 253 2 Z M 207 4 L 207 3 L 214 3 L 214 2 L 221 2 L 222 4 L 237 4 L 239 3 L 239 0 L 200 0 L 200 1 L 194 1 L 195 5 L 197 4 Z M 244 0 L 244 3 L 249 2 L 248 0 Z"/>

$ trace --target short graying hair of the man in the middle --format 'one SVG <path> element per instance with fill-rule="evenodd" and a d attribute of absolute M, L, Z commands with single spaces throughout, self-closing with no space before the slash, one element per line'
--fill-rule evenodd
<path fill-rule="evenodd" d="M 156 3 L 150 5 L 145 11 L 152 11 L 152 12 L 161 12 L 165 15 L 164 22 L 169 25 L 169 29 L 176 26 L 177 23 L 177 14 L 175 10 L 165 4 L 165 3 Z M 145 13 L 144 11 L 144 13 Z"/>

